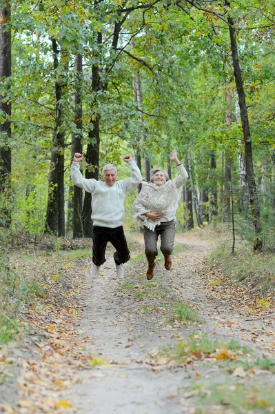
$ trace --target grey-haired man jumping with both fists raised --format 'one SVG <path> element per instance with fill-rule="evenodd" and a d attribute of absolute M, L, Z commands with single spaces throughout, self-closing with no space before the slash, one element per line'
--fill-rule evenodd
<path fill-rule="evenodd" d="M 130 252 L 123 231 L 123 205 L 125 195 L 141 181 L 141 171 L 132 160 L 131 155 L 125 155 L 123 161 L 131 168 L 131 177 L 116 181 L 116 167 L 113 164 L 103 166 L 103 180 L 83 178 L 79 170 L 79 162 L 83 155 L 76 152 L 71 167 L 72 182 L 92 194 L 92 277 L 99 275 L 99 268 L 105 262 L 105 250 L 108 242 L 116 249 L 114 262 L 116 276 L 123 277 L 123 263 L 130 259 Z"/>

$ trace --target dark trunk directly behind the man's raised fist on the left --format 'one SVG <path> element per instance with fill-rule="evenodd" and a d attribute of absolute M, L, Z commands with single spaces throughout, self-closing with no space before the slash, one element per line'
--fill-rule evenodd
<path fill-rule="evenodd" d="M 77 128 L 77 133 L 72 135 L 72 150 L 71 157 L 74 157 L 74 152 L 82 153 L 82 99 L 81 99 L 81 80 L 82 80 L 82 56 L 75 57 L 75 72 L 76 72 L 76 88 L 74 93 L 74 124 Z M 70 209 L 69 209 L 70 210 Z M 72 237 L 83 237 L 83 190 L 74 186 L 72 195 Z"/>

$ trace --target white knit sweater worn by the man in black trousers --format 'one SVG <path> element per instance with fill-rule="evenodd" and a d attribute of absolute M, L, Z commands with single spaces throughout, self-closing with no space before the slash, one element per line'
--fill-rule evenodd
<path fill-rule="evenodd" d="M 128 165 L 131 168 L 131 177 L 116 181 L 113 186 L 108 186 L 104 181 L 83 178 L 79 164 L 79 162 L 72 163 L 72 182 L 92 194 L 94 226 L 109 228 L 122 226 L 125 195 L 142 181 L 139 167 L 134 161 L 130 161 Z"/>

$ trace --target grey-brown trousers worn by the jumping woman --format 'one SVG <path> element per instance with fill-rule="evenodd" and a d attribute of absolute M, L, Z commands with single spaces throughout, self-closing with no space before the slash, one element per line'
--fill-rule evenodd
<path fill-rule="evenodd" d="M 161 223 L 159 226 L 156 226 L 154 231 L 148 228 L 143 229 L 145 255 L 150 267 L 154 265 L 154 259 L 158 255 L 157 243 L 159 235 L 161 236 L 161 253 L 163 253 L 163 256 L 169 256 L 173 252 L 175 234 L 174 220 Z"/>

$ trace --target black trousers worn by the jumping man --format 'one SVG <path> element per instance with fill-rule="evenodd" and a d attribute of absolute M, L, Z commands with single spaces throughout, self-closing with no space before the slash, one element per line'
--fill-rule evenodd
<path fill-rule="evenodd" d="M 130 259 L 127 241 L 124 235 L 123 226 L 116 228 L 94 226 L 92 233 L 92 262 L 101 266 L 105 259 L 107 243 L 110 242 L 116 249 L 114 262 L 116 264 L 126 263 Z"/>

